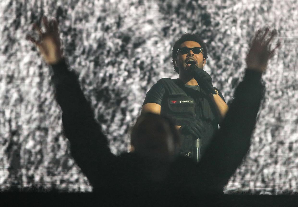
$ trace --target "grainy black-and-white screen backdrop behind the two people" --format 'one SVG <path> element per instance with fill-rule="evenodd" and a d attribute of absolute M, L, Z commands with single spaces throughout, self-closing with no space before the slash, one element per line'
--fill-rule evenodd
<path fill-rule="evenodd" d="M 171 51 L 181 34 L 207 43 L 205 68 L 229 103 L 254 32 L 276 29 L 282 44 L 264 76 L 252 147 L 225 192 L 296 194 L 297 7 L 296 0 L 1 0 L 0 191 L 92 190 L 63 136 L 51 71 L 25 39 L 44 15 L 59 20 L 65 55 L 114 154 L 128 150 L 150 87 L 178 77 Z"/>

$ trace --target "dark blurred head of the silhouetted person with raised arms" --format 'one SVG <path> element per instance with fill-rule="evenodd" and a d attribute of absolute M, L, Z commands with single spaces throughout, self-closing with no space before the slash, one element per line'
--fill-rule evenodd
<path fill-rule="evenodd" d="M 170 118 L 142 114 L 131 132 L 132 151 L 147 159 L 171 162 L 179 152 L 180 138 Z"/>

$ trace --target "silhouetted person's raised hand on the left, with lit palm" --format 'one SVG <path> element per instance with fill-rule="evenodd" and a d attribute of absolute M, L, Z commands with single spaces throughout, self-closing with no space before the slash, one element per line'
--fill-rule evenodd
<path fill-rule="evenodd" d="M 29 35 L 27 35 L 26 39 L 33 42 L 39 48 L 44 60 L 48 64 L 55 64 L 63 58 L 57 21 L 53 18 L 49 22 L 46 17 L 43 17 L 43 22 L 46 27 L 45 31 L 42 31 L 37 23 L 33 24 L 33 29 L 39 33 L 39 40 Z"/>

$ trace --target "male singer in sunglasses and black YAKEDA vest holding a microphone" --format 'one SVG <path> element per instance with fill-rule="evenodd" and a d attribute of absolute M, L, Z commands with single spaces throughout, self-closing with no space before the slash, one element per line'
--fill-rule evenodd
<path fill-rule="evenodd" d="M 203 69 L 207 57 L 206 45 L 198 35 L 182 35 L 172 51 L 179 78 L 160 79 L 146 94 L 142 107 L 142 113 L 173 118 L 183 138 L 181 154 L 191 157 L 196 139 L 204 154 L 228 110 L 221 92 L 212 86 L 210 75 Z"/>

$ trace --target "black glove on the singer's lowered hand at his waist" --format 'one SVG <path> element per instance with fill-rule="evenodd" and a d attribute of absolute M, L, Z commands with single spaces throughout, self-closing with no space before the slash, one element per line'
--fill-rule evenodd
<path fill-rule="evenodd" d="M 193 135 L 192 137 L 195 140 L 203 138 L 203 132 L 206 131 L 203 123 L 198 120 L 192 121 L 188 125 L 181 126 L 179 130 L 182 135 Z"/>

